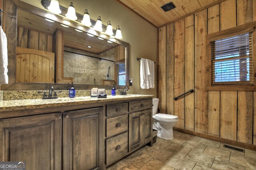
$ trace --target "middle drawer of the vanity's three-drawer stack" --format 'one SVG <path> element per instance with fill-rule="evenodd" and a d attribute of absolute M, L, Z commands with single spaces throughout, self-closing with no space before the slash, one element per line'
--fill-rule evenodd
<path fill-rule="evenodd" d="M 116 135 L 128 130 L 128 115 L 122 115 L 106 119 L 107 129 L 106 137 Z"/>

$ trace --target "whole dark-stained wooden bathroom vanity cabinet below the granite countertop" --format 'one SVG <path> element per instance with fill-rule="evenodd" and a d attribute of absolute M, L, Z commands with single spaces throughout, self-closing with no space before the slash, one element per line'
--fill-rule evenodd
<path fill-rule="evenodd" d="M 104 170 L 152 141 L 151 96 L 49 103 L 54 106 L 0 111 L 0 161 L 24 161 L 28 170 Z"/>

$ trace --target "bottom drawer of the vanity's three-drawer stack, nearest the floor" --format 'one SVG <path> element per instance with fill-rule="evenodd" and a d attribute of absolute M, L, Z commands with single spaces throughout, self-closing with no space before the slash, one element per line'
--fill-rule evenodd
<path fill-rule="evenodd" d="M 106 139 L 106 165 L 110 165 L 128 153 L 128 133 Z"/>

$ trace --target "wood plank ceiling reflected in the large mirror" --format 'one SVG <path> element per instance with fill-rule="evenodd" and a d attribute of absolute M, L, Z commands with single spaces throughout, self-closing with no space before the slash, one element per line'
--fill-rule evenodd
<path fill-rule="evenodd" d="M 18 26 L 47 35 L 53 35 L 58 28 L 64 31 L 64 46 L 90 53 L 100 54 L 108 49 L 118 46 L 117 43 L 108 43 L 106 39 L 98 39 L 96 36 L 90 37 L 84 32 L 78 32 L 72 27 L 63 27 L 58 22 L 49 22 L 43 17 L 31 14 L 18 9 Z M 43 23 L 43 24 L 42 24 Z M 91 46 L 92 48 L 88 48 Z"/>

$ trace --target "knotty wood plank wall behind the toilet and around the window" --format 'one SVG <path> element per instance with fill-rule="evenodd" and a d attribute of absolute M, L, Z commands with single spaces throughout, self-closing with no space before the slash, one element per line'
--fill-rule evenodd
<path fill-rule="evenodd" d="M 206 91 L 205 36 L 252 21 L 256 0 L 226 0 L 159 28 L 159 108 L 179 116 L 176 127 L 256 145 L 256 92 Z"/>

